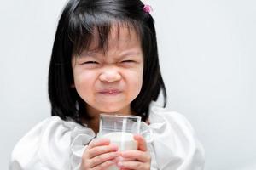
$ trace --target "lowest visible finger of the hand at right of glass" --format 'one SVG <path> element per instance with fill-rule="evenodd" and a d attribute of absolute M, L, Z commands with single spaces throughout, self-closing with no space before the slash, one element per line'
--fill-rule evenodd
<path fill-rule="evenodd" d="M 150 169 L 149 163 L 143 163 L 141 161 L 119 161 L 117 166 L 121 169 Z"/>

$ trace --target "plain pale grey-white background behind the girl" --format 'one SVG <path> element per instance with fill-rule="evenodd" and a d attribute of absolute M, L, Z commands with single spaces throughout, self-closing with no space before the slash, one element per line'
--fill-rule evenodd
<path fill-rule="evenodd" d="M 207 170 L 256 169 L 256 2 L 151 0 L 168 107 L 195 127 Z M 0 5 L 0 169 L 50 115 L 49 57 L 65 0 Z"/>

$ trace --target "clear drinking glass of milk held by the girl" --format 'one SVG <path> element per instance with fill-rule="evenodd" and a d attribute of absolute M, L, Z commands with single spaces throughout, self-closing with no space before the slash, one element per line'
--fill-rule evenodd
<path fill-rule="evenodd" d="M 98 136 L 108 138 L 112 144 L 119 147 L 119 151 L 137 150 L 137 141 L 134 134 L 140 133 L 140 116 L 100 115 L 100 129 Z M 108 170 L 119 170 L 111 166 Z"/>

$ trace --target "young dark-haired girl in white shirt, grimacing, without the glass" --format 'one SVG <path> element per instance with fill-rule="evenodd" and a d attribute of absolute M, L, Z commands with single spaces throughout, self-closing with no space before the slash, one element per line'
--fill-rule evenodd
<path fill-rule="evenodd" d="M 49 65 L 52 116 L 20 139 L 11 170 L 203 169 L 189 122 L 154 102 L 162 92 L 166 105 L 166 88 L 148 9 L 139 0 L 67 3 Z M 137 150 L 96 138 L 100 113 L 141 116 Z"/>

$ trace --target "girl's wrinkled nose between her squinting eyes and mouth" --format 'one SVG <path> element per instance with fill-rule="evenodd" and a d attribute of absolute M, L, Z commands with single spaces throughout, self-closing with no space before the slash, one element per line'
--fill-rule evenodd
<path fill-rule="evenodd" d="M 102 71 L 99 79 L 102 82 L 117 82 L 121 79 L 121 75 L 117 69 L 108 67 Z"/>

